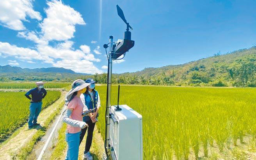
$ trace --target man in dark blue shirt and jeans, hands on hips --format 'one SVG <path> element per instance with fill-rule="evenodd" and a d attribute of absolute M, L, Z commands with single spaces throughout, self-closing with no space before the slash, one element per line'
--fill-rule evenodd
<path fill-rule="evenodd" d="M 46 96 L 47 92 L 44 89 L 44 82 L 36 82 L 37 87 L 28 91 L 25 96 L 30 100 L 30 114 L 28 118 L 28 129 L 33 128 L 33 126 L 39 125 L 37 123 L 37 117 L 41 112 L 42 100 Z M 29 95 L 32 95 L 30 98 Z"/>

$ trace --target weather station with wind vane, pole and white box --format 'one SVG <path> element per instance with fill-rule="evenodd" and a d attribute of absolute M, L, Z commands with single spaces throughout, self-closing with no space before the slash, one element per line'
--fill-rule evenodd
<path fill-rule="evenodd" d="M 124 18 L 122 9 L 118 5 L 116 7 L 118 16 L 126 23 L 126 31 L 124 32 L 124 39 L 113 42 L 113 36 L 109 36 L 109 43 L 103 45 L 108 58 L 105 159 L 142 160 L 142 116 L 128 105 L 119 105 L 120 85 L 118 86 L 117 105 L 111 105 L 112 62 L 123 59 L 126 52 L 134 46 L 129 31 L 129 28 L 131 30 L 133 28 Z M 107 48 L 109 48 L 108 53 Z"/>

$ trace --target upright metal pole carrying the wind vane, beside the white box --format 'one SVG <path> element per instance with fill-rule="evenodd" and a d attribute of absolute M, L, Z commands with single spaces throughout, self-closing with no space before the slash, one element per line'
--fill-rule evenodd
<path fill-rule="evenodd" d="M 107 108 L 106 108 L 106 133 L 105 133 L 105 150 L 107 154 L 107 158 L 110 159 L 110 135 L 109 135 L 109 127 L 110 127 L 110 106 L 111 106 L 111 84 L 112 84 L 112 50 L 113 50 L 113 36 L 109 36 L 110 48 L 108 54 L 108 80 L 107 80 Z"/>

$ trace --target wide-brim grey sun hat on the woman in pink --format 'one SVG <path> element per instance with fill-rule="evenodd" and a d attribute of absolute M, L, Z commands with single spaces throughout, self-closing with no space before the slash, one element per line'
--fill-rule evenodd
<path fill-rule="evenodd" d="M 88 85 L 90 85 L 89 83 L 85 83 L 84 80 L 75 80 L 72 84 L 72 89 L 66 94 L 65 96 L 65 101 L 70 101 L 72 95 L 74 92 L 79 91 L 81 89 L 84 89 L 85 87 L 87 87 Z"/>

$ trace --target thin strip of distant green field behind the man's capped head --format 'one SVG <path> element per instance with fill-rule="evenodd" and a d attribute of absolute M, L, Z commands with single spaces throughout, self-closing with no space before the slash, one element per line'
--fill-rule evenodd
<path fill-rule="evenodd" d="M 70 83 L 45 83 L 44 88 L 63 88 Z M 30 89 L 37 85 L 35 83 L 0 83 L 0 89 Z"/>

